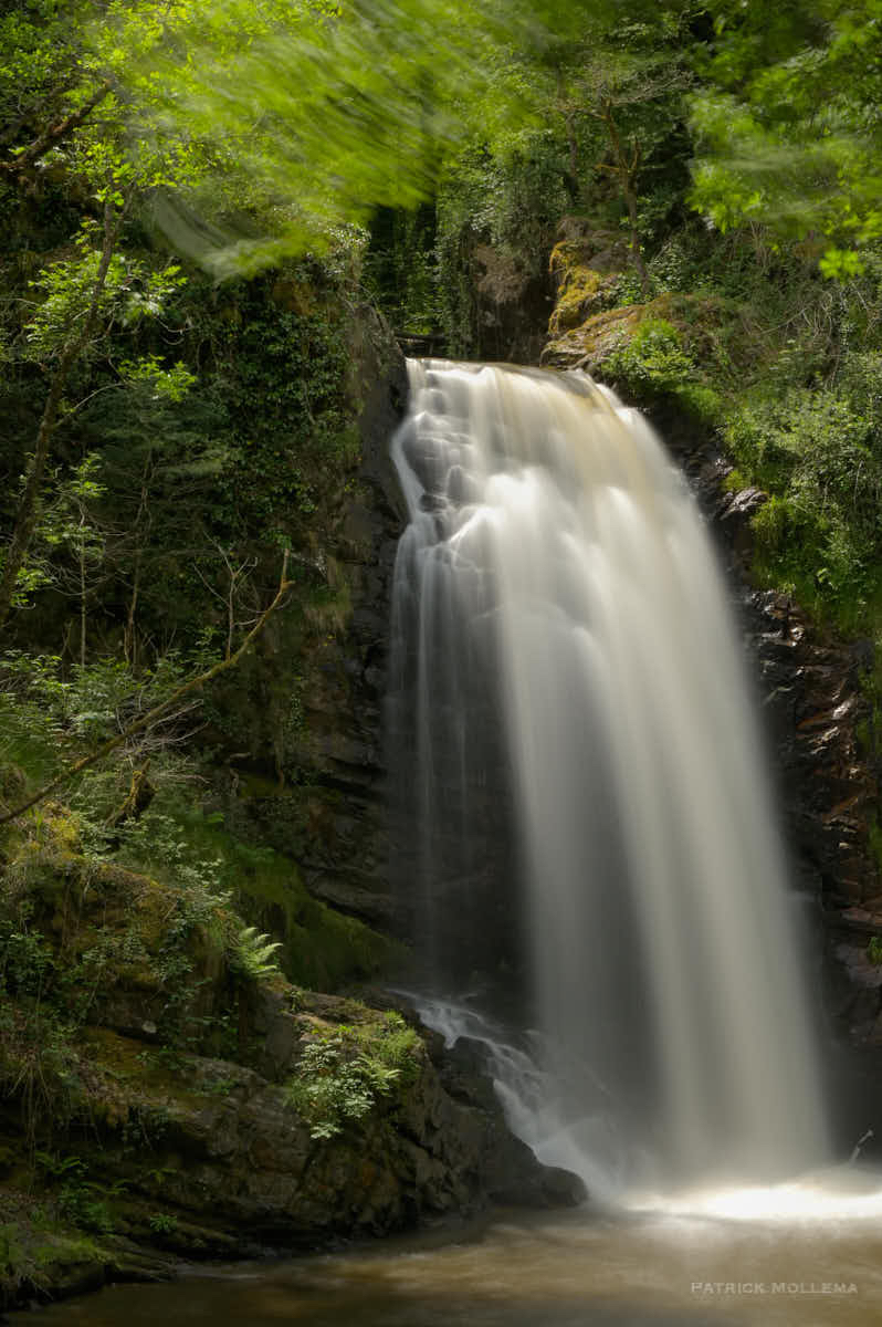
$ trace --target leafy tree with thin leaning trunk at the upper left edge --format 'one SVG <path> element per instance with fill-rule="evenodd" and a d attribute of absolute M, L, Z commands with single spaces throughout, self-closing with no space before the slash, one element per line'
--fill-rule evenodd
<path fill-rule="evenodd" d="M 72 378 L 117 318 L 155 316 L 182 280 L 174 265 L 150 272 L 119 251 L 137 194 L 170 183 L 172 158 L 176 178 L 186 167 L 176 145 L 170 150 L 155 135 L 133 147 L 131 107 L 118 96 L 119 66 L 133 48 L 155 40 L 158 11 L 111 8 L 125 13 L 122 46 L 106 32 L 98 37 L 98 8 L 88 0 L 31 0 L 24 13 L 0 20 L 0 106 L 9 117 L 0 133 L 7 210 L 15 208 L 11 190 L 38 191 L 46 169 L 61 171 L 69 191 L 77 187 L 86 196 L 73 256 L 56 259 L 31 281 L 33 312 L 7 338 L 7 362 L 36 365 L 46 394 L 3 552 L 0 630 L 27 573 L 53 439 L 72 410 Z M 142 88 L 142 106 L 149 105 Z"/>

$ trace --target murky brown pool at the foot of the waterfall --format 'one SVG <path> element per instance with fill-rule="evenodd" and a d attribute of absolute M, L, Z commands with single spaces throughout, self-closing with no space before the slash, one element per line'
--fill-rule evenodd
<path fill-rule="evenodd" d="M 29 1314 L 13 1322 L 34 1322 Z M 196 1267 L 41 1311 L 46 1327 L 826 1327 L 882 1323 L 882 1189 L 496 1212 L 345 1253 Z"/>

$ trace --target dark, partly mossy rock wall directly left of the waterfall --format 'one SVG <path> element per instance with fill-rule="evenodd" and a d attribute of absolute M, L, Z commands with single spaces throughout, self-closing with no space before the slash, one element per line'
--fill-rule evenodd
<path fill-rule="evenodd" d="M 292 857 L 314 896 L 401 933 L 386 884 L 382 706 L 390 583 L 405 524 L 389 445 L 407 380 L 401 350 L 371 309 L 353 313 L 347 340 L 358 454 L 345 482 L 329 480 L 318 492 L 314 548 L 292 560 L 297 589 L 228 689 L 236 735 L 224 740 L 237 750 L 216 798 L 228 825 Z"/>

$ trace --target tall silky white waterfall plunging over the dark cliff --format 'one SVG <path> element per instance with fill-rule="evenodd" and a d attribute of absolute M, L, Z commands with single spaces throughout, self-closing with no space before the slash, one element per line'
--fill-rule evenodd
<path fill-rule="evenodd" d="M 589 1184 L 598 1153 L 631 1184 L 825 1160 L 741 645 L 684 482 L 582 373 L 409 372 L 389 726 L 427 987 L 529 991 L 528 1141 Z"/>

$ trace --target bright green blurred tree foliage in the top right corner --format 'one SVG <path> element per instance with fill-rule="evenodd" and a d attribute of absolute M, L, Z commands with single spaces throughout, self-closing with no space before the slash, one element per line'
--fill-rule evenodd
<path fill-rule="evenodd" d="M 755 224 L 773 244 L 814 247 L 826 276 L 859 272 L 882 238 L 882 4 L 708 8 L 694 206 L 719 230 Z"/>

